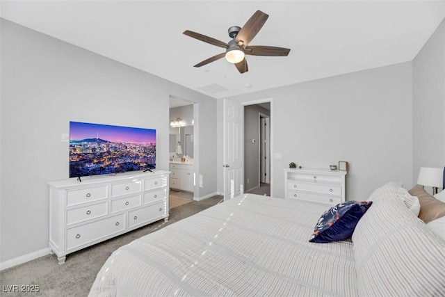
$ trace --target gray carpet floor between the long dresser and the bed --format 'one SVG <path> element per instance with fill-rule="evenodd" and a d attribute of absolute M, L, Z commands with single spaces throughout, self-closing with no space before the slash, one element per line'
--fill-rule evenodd
<path fill-rule="evenodd" d="M 212 207 L 223 200 L 213 196 L 202 201 L 193 201 L 170 209 L 168 223 L 164 220 L 122 234 L 90 248 L 67 255 L 65 264 L 58 265 L 55 255 L 46 255 L 33 261 L 8 268 L 0 272 L 0 295 L 3 296 L 88 296 L 99 269 L 111 253 L 145 234 Z M 17 285 L 19 292 L 8 292 Z M 22 293 L 20 286 L 38 285 L 38 293 Z"/>

